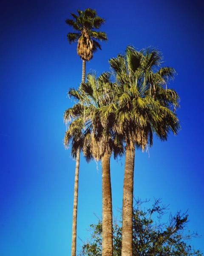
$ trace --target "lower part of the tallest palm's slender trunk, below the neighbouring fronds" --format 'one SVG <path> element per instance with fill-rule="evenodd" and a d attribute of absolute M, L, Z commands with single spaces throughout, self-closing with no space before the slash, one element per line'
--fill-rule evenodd
<path fill-rule="evenodd" d="M 73 219 L 72 219 L 71 256 L 76 256 L 79 156 L 80 156 L 80 151 L 78 149 L 76 167 L 75 167 L 75 179 L 74 179 L 74 207 L 73 207 Z"/>

